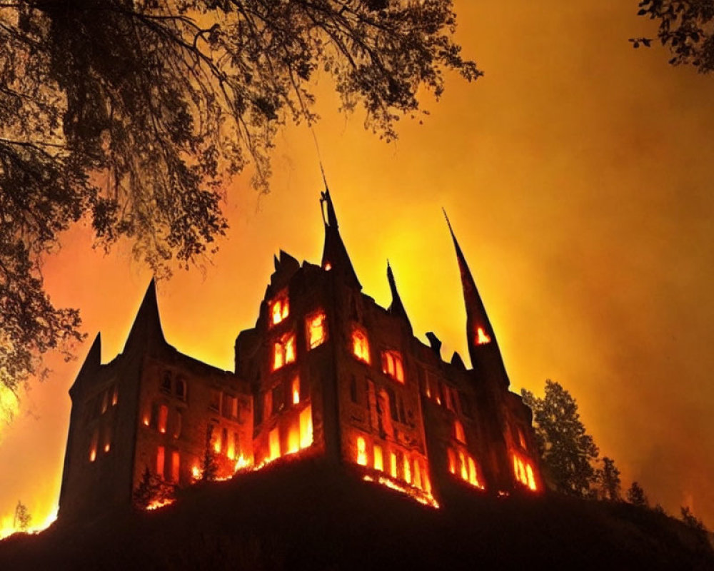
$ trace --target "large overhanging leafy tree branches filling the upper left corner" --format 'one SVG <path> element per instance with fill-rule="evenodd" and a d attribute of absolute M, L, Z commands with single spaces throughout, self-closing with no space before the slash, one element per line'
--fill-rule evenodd
<path fill-rule="evenodd" d="M 452 0 L 24 0 L 0 5 L 0 383 L 80 340 L 44 291 L 43 256 L 85 217 L 159 276 L 226 231 L 226 178 L 263 191 L 278 126 L 317 119 L 319 71 L 388 139 L 443 71 L 481 75 L 451 40 Z"/>

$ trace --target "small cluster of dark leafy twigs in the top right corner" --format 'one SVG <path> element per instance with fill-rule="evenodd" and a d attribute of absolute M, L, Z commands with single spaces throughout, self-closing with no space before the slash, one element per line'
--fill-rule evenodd
<path fill-rule="evenodd" d="M 638 6 L 639 16 L 658 22 L 657 37 L 673 56 L 670 64 L 690 64 L 703 74 L 714 69 L 714 0 L 640 0 Z M 652 41 L 630 39 L 635 48 Z"/>

